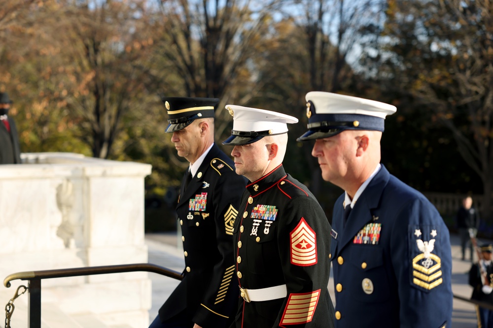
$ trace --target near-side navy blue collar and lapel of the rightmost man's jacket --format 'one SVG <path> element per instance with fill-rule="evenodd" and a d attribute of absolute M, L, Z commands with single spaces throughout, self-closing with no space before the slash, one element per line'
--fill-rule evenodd
<path fill-rule="evenodd" d="M 373 221 L 372 209 L 376 209 L 379 206 L 380 198 L 382 197 L 382 192 L 387 185 L 390 174 L 387 169 L 382 165 L 380 171 L 366 186 L 365 190 L 359 196 L 354 208 L 349 214 L 348 222 L 346 227 L 341 229 L 343 217 L 341 210 L 341 217 L 339 221 L 339 229 L 342 231 L 340 244 L 338 246 L 339 250 L 342 250 L 349 242 L 351 242 L 365 224 Z"/>

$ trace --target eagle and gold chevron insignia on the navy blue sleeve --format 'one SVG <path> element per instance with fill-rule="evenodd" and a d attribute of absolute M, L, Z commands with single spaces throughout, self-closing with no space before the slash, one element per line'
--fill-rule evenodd
<path fill-rule="evenodd" d="M 435 254 L 435 237 L 438 235 L 437 229 L 431 227 L 410 227 L 413 238 L 411 243 L 412 260 L 412 284 L 420 287 L 424 291 L 430 291 L 443 282 L 441 259 Z M 435 251 L 435 253 L 432 253 Z"/>

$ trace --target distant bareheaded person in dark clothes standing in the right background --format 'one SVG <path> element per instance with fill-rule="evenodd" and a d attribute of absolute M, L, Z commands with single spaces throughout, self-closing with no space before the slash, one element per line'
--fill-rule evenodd
<path fill-rule="evenodd" d="M 471 238 L 476 238 L 479 229 L 479 212 L 472 206 L 472 197 L 462 200 L 462 206 L 457 211 L 457 228 L 460 236 L 460 250 L 462 261 L 465 260 L 465 248 L 469 243 L 470 260 L 473 262 L 474 251 Z"/>

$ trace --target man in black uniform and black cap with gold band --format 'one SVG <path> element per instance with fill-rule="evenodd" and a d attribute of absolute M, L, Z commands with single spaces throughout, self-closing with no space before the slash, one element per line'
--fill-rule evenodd
<path fill-rule="evenodd" d="M 162 97 L 178 156 L 190 163 L 176 212 L 182 231 L 183 280 L 159 309 L 151 328 L 224 328 L 234 319 L 233 224 L 246 180 L 214 144 L 219 99 Z"/>

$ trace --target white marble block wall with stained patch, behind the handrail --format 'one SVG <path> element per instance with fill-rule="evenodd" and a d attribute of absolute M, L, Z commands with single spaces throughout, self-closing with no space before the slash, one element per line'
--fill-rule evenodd
<path fill-rule="evenodd" d="M 147 263 L 150 165 L 73 153 L 22 158 L 22 165 L 0 165 L 0 280 L 19 271 Z M 26 283 L 1 285 L 0 306 Z M 146 272 L 46 279 L 41 300 L 68 314 L 97 313 L 108 325 L 142 328 L 149 324 L 151 285 Z M 16 316 L 27 313 L 15 313 L 12 323 Z"/>

